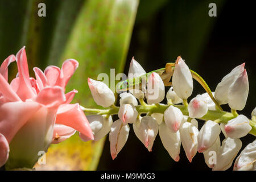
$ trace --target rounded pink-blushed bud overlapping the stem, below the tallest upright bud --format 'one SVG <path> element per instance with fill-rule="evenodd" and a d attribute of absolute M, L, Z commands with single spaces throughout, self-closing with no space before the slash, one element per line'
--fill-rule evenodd
<path fill-rule="evenodd" d="M 177 132 L 180 129 L 181 123 L 183 121 L 183 114 L 179 108 L 169 106 L 164 111 L 164 121 L 172 132 Z"/>

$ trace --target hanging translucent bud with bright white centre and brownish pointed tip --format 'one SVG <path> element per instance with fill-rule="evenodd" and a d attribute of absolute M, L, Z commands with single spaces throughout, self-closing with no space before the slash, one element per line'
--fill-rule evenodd
<path fill-rule="evenodd" d="M 158 123 L 155 118 L 151 116 L 144 116 L 141 119 L 141 125 L 139 126 L 139 135 L 142 143 L 148 151 L 152 151 L 152 146 L 156 135 L 158 134 Z"/>

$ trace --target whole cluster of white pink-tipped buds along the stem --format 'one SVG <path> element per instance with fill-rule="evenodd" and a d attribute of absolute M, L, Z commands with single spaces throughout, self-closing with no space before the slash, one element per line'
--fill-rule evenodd
<path fill-rule="evenodd" d="M 249 84 L 244 65 L 239 65 L 226 75 L 217 85 L 213 96 L 219 104 L 229 104 L 232 110 L 242 110 L 248 96 Z M 141 65 L 131 60 L 128 78 L 144 75 L 146 72 Z M 112 90 L 103 82 L 88 78 L 89 88 L 97 105 L 110 107 L 114 105 L 115 96 Z M 234 115 L 228 123 L 219 124 L 217 121 L 205 121 L 201 129 L 198 128 L 197 119 L 202 119 L 208 111 L 216 111 L 218 108 L 208 93 L 199 94 L 187 105 L 188 114 L 183 114 L 178 106 L 187 103 L 193 90 L 193 78 L 185 61 L 179 56 L 175 63 L 172 75 L 172 86 L 166 94 L 167 109 L 162 113 L 146 112 L 141 116 L 137 111 L 138 100 L 141 106 L 162 105 L 165 89 L 162 78 L 158 73 L 152 72 L 147 80 L 147 86 L 136 90 L 129 90 L 120 94 L 117 121 L 112 121 L 111 114 L 88 115 L 88 121 L 94 134 L 94 140 L 99 140 L 109 133 L 110 152 L 115 159 L 129 136 L 130 124 L 133 124 L 135 135 L 144 144 L 148 151 L 152 146 L 156 135 L 159 133 L 164 148 L 176 162 L 180 159 L 181 144 L 185 154 L 192 162 L 197 152 L 203 153 L 205 163 L 213 170 L 226 170 L 232 166 L 233 160 L 242 147 L 241 137 L 247 135 L 250 130 L 250 121 L 245 115 Z M 138 90 L 137 90 L 138 91 Z M 157 97 L 151 97 L 157 93 Z M 143 99 L 146 97 L 147 104 Z M 143 103 L 142 103 L 143 102 Z M 116 106 L 113 106 L 116 107 Z M 116 107 L 117 108 L 117 107 Z M 117 114 L 117 113 L 116 113 Z M 252 117 L 255 117 L 254 109 Z M 204 119 L 205 120 L 205 119 Z M 255 119 L 254 119 L 255 120 Z M 220 133 L 225 139 L 220 140 Z M 85 141 L 89 138 L 81 136 Z M 216 161 L 212 162 L 212 152 L 216 153 Z M 256 140 L 248 144 L 237 157 L 234 170 L 256 169 Z"/>

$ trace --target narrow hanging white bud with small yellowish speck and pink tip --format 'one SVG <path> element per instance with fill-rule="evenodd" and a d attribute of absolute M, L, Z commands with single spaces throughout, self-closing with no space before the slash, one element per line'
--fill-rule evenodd
<path fill-rule="evenodd" d="M 189 162 L 192 162 L 192 159 L 197 152 L 197 135 L 199 131 L 196 126 L 189 122 L 183 123 L 179 131 L 181 143 L 186 153 L 186 156 Z"/>

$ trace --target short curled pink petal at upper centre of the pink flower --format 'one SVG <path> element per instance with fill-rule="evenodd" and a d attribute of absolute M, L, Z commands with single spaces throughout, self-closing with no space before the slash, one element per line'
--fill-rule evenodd
<path fill-rule="evenodd" d="M 63 88 L 60 86 L 47 86 L 41 90 L 36 98 L 36 102 L 46 107 L 54 107 L 63 104 L 66 101 Z"/>

